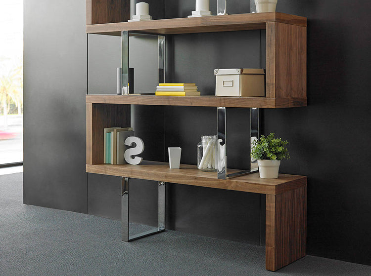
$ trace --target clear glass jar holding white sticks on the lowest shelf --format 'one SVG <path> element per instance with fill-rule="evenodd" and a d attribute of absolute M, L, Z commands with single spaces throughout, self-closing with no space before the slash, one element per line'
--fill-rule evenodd
<path fill-rule="evenodd" d="M 215 172 L 217 166 L 217 135 L 202 135 L 197 144 L 197 168 Z"/>

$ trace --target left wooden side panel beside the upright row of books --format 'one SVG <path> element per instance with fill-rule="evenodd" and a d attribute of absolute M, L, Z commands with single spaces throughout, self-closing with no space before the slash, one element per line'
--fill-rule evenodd
<path fill-rule="evenodd" d="M 103 163 L 103 128 L 130 126 L 130 105 L 87 104 L 87 164 Z"/>

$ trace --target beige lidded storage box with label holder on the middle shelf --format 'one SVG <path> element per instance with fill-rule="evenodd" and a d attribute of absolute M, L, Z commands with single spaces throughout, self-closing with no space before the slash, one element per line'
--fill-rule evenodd
<path fill-rule="evenodd" d="M 265 95 L 264 69 L 215 69 L 216 96 L 259 97 Z"/>

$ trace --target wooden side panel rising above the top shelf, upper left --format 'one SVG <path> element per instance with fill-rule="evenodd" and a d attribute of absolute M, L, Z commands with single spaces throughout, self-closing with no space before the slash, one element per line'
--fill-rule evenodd
<path fill-rule="evenodd" d="M 86 5 L 87 25 L 125 22 L 130 19 L 130 0 L 87 0 Z"/>

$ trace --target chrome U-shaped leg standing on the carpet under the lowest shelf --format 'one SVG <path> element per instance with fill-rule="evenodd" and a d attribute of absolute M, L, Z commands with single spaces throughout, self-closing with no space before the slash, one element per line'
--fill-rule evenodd
<path fill-rule="evenodd" d="M 136 234 L 129 235 L 129 178 L 121 178 L 121 239 L 132 241 L 141 237 L 160 233 L 165 230 L 165 182 L 158 182 L 158 227 Z"/>

